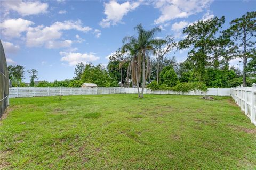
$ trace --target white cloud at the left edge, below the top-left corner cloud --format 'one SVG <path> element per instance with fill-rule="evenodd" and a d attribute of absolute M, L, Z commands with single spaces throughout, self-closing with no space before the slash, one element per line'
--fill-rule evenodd
<path fill-rule="evenodd" d="M 34 22 L 29 20 L 24 20 L 22 18 L 18 19 L 9 19 L 0 23 L 1 33 L 10 38 L 20 37 L 22 32 L 28 30 L 30 25 L 33 25 Z"/>

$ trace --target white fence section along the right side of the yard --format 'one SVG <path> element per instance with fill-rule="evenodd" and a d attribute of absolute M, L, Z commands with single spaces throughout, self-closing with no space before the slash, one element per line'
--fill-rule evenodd
<path fill-rule="evenodd" d="M 231 88 L 231 96 L 251 122 L 256 125 L 256 84 L 254 83 L 252 87 Z"/>

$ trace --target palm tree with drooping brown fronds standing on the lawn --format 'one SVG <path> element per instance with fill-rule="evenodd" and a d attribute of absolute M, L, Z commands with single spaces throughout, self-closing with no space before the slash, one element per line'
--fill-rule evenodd
<path fill-rule="evenodd" d="M 154 53 L 154 46 L 159 43 L 159 40 L 154 39 L 154 36 L 156 35 L 157 32 L 160 32 L 161 29 L 159 27 L 155 27 L 151 30 L 145 30 L 141 24 L 137 25 L 134 29 L 137 30 L 138 38 L 135 38 L 133 36 L 125 37 L 123 39 L 123 43 L 127 43 L 123 47 L 129 46 L 129 44 L 133 44 L 131 47 L 135 47 L 135 55 L 132 58 L 135 59 L 135 62 L 137 63 L 138 66 L 137 69 L 135 69 L 135 71 L 138 71 L 138 78 L 141 75 L 141 70 L 139 66 L 140 63 L 142 62 L 142 90 L 140 97 L 143 98 L 145 80 L 150 76 L 151 73 L 150 54 Z M 135 56 L 136 58 L 134 58 Z M 140 81 L 140 79 L 138 79 L 138 81 Z"/>

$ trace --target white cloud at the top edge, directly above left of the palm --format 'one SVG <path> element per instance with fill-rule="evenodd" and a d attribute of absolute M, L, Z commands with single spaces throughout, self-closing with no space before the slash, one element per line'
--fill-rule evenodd
<path fill-rule="evenodd" d="M 119 4 L 115 0 L 111 0 L 109 3 L 104 3 L 104 14 L 107 16 L 105 19 L 102 19 L 100 26 L 104 28 L 120 23 L 124 15 L 129 11 L 135 10 L 139 5 L 139 2 L 131 3 L 129 1 Z"/>

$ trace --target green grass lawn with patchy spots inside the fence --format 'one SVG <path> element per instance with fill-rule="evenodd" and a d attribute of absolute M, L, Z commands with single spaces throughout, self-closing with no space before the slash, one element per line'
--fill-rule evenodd
<path fill-rule="evenodd" d="M 230 97 L 11 99 L 0 169 L 255 169 L 256 127 Z"/>

